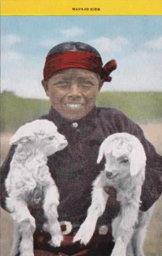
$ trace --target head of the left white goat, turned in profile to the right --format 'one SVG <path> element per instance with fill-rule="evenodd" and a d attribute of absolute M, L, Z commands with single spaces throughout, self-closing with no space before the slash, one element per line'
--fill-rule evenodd
<path fill-rule="evenodd" d="M 57 131 L 55 124 L 48 120 L 35 120 L 21 126 L 11 137 L 10 145 L 33 148 L 50 156 L 68 144 L 66 138 Z"/>

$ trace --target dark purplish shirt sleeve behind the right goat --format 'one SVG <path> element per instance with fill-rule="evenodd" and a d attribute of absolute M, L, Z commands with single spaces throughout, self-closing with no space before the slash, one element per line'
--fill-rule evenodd
<path fill-rule="evenodd" d="M 136 136 L 142 143 L 146 160 L 145 180 L 141 193 L 141 211 L 147 211 L 160 197 L 162 191 L 162 156 L 160 156 L 154 146 L 145 139 L 142 129 L 126 117 L 120 111 L 114 117 L 114 121 L 119 132 L 128 132 Z"/>

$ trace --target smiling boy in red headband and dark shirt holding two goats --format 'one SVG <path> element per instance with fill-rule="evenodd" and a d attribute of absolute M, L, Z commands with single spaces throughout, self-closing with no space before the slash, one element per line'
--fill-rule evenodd
<path fill-rule="evenodd" d="M 111 81 L 109 75 L 115 68 L 114 60 L 102 67 L 99 52 L 80 42 L 59 44 L 48 53 L 42 85 L 51 102 L 51 109 L 41 119 L 54 122 L 58 132 L 68 140 L 66 148 L 48 158 L 49 170 L 60 194 L 58 213 L 64 241 L 59 248 L 48 244 L 50 236 L 42 228 L 45 222 L 42 209 L 39 205 L 33 205 L 30 209 L 37 224 L 34 234 L 34 248 L 37 249 L 35 255 L 111 254 L 114 245 L 111 221 L 120 210 L 111 189 L 108 191 L 110 198 L 106 210 L 97 222 L 90 243 L 84 247 L 79 243 L 73 244 L 72 240 L 91 204 L 92 182 L 104 168 L 104 159 L 97 164 L 99 146 L 113 133 L 133 134 L 144 146 L 147 156 L 146 179 L 140 209 L 147 211 L 160 196 L 162 158 L 144 138 L 141 128 L 117 109 L 95 106 L 103 82 Z M 13 146 L 1 168 L 1 205 L 4 209 L 7 196 L 4 180 L 9 172 L 14 149 Z"/>

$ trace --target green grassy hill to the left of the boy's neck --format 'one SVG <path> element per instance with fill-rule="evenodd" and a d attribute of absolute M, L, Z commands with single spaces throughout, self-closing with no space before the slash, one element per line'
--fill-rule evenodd
<path fill-rule="evenodd" d="M 1 93 L 1 131 L 15 132 L 22 124 L 48 113 L 48 100 L 24 99 L 13 92 Z"/>

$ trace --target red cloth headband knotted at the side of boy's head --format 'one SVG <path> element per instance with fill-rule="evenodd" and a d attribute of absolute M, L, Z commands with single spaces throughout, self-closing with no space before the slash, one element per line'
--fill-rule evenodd
<path fill-rule="evenodd" d="M 66 68 L 83 68 L 99 74 L 104 82 L 110 82 L 110 73 L 117 67 L 115 60 L 110 60 L 102 68 L 99 57 L 90 52 L 64 51 L 48 55 L 43 69 L 44 80 L 47 81 L 56 71 Z"/>

